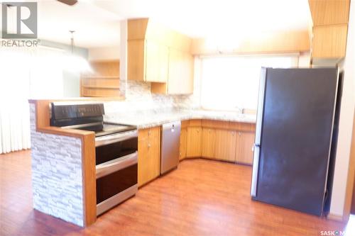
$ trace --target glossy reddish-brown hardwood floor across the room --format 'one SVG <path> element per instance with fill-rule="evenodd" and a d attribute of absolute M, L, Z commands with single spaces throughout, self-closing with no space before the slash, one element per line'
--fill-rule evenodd
<path fill-rule="evenodd" d="M 299 236 L 346 228 L 344 223 L 251 201 L 250 181 L 251 167 L 188 159 L 94 225 L 81 228 L 32 209 L 29 151 L 1 154 L 0 235 Z"/>

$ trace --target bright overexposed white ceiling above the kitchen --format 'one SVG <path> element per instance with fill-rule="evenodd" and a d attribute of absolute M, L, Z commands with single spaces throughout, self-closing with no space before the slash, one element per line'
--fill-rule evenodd
<path fill-rule="evenodd" d="M 79 0 L 74 6 L 38 1 L 38 38 L 75 45 L 119 45 L 119 21 L 150 17 L 194 38 L 244 37 L 278 30 L 307 30 L 307 0 Z"/>

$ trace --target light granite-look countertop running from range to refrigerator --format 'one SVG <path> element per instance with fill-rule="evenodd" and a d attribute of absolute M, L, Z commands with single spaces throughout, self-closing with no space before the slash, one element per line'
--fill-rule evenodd
<path fill-rule="evenodd" d="M 110 114 L 104 117 L 106 122 L 136 125 L 138 129 L 151 128 L 174 120 L 208 119 L 242 123 L 256 123 L 256 115 L 241 114 L 232 111 L 181 110 L 181 111 L 145 111 L 130 115 Z"/>

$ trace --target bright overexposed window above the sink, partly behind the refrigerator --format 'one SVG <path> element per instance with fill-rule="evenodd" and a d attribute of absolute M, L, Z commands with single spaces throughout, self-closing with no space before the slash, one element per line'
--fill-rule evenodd
<path fill-rule="evenodd" d="M 207 109 L 256 109 L 261 67 L 297 67 L 297 55 L 202 58 L 201 105 Z"/>

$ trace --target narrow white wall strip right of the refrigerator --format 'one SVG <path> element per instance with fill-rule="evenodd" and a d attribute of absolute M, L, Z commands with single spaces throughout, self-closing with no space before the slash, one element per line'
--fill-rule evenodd
<path fill-rule="evenodd" d="M 334 169 L 334 184 L 330 214 L 342 216 L 346 194 L 346 179 L 349 168 L 351 131 L 355 106 L 355 2 L 351 1 L 349 31 L 344 62 L 344 86 L 339 123 L 337 158 Z"/>

